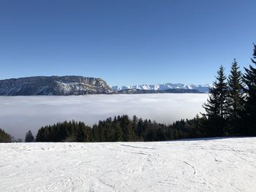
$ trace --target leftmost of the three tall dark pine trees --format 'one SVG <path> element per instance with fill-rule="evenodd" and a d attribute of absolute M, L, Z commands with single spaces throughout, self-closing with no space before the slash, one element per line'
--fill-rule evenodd
<path fill-rule="evenodd" d="M 208 118 L 209 136 L 222 136 L 227 117 L 227 77 L 224 74 L 223 66 L 220 66 L 217 72 L 216 81 L 210 88 L 210 96 L 207 103 L 203 104 L 206 110 L 205 115 Z"/>

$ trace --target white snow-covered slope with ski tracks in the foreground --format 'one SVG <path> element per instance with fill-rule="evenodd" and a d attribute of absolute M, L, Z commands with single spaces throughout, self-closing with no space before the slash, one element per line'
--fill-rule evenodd
<path fill-rule="evenodd" d="M 0 191 L 255 191 L 256 138 L 0 144 Z"/>

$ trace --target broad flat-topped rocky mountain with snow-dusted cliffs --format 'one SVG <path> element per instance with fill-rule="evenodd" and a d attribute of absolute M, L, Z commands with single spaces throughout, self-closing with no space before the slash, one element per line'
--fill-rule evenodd
<path fill-rule="evenodd" d="M 1 96 L 68 96 L 96 93 L 115 93 L 115 91 L 104 80 L 94 77 L 37 76 L 0 80 Z"/>

